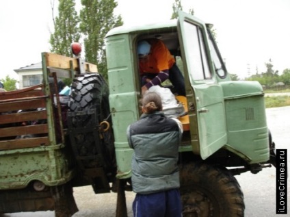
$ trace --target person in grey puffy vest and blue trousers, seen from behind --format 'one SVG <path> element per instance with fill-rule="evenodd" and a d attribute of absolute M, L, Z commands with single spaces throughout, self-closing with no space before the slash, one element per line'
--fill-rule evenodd
<path fill-rule="evenodd" d="M 146 92 L 140 120 L 127 128 L 132 157 L 132 187 L 135 217 L 181 216 L 179 193 L 179 144 L 183 128 L 176 118 L 162 112 L 161 97 Z"/>

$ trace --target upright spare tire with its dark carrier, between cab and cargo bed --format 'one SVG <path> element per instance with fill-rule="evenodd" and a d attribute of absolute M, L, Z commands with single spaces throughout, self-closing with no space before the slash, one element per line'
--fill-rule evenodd
<path fill-rule="evenodd" d="M 109 88 L 102 75 L 85 73 L 75 77 L 68 105 L 70 145 L 78 173 L 73 185 L 92 185 L 96 194 L 114 191 L 117 173 L 114 134 Z"/>

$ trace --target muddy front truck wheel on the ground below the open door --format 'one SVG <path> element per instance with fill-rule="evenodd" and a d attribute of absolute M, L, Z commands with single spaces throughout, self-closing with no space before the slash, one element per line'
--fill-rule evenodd
<path fill-rule="evenodd" d="M 186 164 L 180 169 L 183 217 L 241 217 L 243 192 L 226 168 Z"/>

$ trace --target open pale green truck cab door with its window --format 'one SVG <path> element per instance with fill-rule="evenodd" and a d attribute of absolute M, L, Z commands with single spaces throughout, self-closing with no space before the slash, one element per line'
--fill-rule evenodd
<path fill-rule="evenodd" d="M 179 12 L 179 42 L 189 103 L 194 153 L 206 159 L 226 144 L 226 118 L 222 87 L 215 77 L 205 23 Z"/>

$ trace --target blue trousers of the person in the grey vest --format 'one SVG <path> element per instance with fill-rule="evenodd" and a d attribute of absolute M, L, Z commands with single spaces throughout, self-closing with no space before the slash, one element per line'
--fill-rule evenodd
<path fill-rule="evenodd" d="M 178 189 L 154 194 L 136 194 L 134 217 L 181 217 L 181 196 Z"/>

